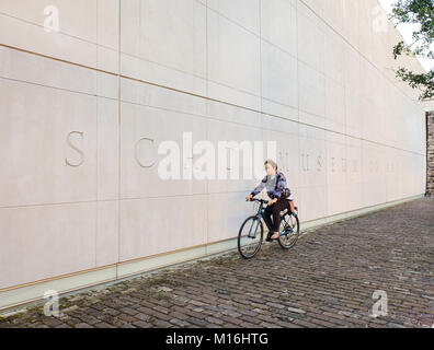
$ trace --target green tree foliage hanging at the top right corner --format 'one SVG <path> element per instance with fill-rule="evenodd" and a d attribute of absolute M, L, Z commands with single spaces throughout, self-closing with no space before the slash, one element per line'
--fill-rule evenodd
<path fill-rule="evenodd" d="M 396 25 L 401 23 L 416 24 L 410 44 L 398 43 L 393 47 L 393 57 L 400 55 L 415 55 L 434 59 L 434 0 L 397 0 L 393 4 L 391 20 Z M 404 67 L 397 70 L 397 77 L 409 83 L 413 89 L 421 91 L 420 100 L 434 97 L 434 70 L 427 73 L 414 73 Z"/>

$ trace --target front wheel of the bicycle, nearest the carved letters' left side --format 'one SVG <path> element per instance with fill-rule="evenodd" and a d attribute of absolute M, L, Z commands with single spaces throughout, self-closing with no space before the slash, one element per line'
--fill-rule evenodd
<path fill-rule="evenodd" d="M 264 226 L 258 217 L 245 219 L 238 233 L 238 252 L 244 259 L 256 255 L 262 245 Z"/>

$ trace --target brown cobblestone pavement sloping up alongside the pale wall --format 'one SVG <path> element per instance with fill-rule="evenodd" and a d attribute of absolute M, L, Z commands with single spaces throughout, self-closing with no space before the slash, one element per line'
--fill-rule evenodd
<path fill-rule="evenodd" d="M 434 199 L 318 229 L 253 260 L 238 253 L 148 273 L 0 319 L 0 327 L 431 327 Z M 373 317 L 382 290 L 388 315 Z"/>

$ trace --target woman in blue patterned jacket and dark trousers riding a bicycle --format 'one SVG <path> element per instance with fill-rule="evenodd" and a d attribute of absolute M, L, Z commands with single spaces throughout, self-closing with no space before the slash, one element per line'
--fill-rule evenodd
<path fill-rule="evenodd" d="M 281 212 L 285 209 L 288 209 L 289 212 L 294 212 L 294 200 L 290 190 L 286 188 L 285 175 L 281 172 L 277 172 L 277 164 L 272 160 L 267 160 L 265 161 L 264 165 L 266 172 L 265 177 L 253 189 L 253 191 L 248 197 L 245 197 L 245 199 L 251 200 L 254 196 L 266 188 L 266 192 L 271 198 L 271 201 L 269 201 L 265 209 L 264 219 L 271 223 L 271 228 L 273 228 L 274 232 L 271 237 L 269 233 L 269 238 L 277 240 L 282 221 Z M 273 221 L 271 218 L 273 218 Z"/>

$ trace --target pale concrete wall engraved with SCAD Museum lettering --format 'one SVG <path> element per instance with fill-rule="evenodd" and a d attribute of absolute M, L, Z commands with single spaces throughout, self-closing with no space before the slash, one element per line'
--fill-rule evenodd
<path fill-rule="evenodd" d="M 44 30 L 50 4 L 59 32 Z M 69 290 L 235 246 L 255 182 L 165 183 L 140 166 L 158 160 L 142 138 L 276 140 L 302 222 L 423 194 L 424 112 L 395 79 L 400 36 L 374 25 L 378 9 L 0 1 L 0 306 L 37 298 L 35 282 Z"/>

